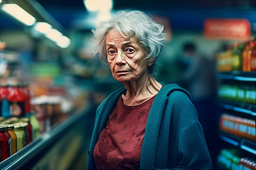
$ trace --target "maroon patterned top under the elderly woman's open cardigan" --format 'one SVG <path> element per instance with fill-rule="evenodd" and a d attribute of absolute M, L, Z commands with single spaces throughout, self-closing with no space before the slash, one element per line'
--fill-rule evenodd
<path fill-rule="evenodd" d="M 155 96 L 137 106 L 126 106 L 121 97 L 109 115 L 94 148 L 98 170 L 138 170 L 149 110 Z"/>

